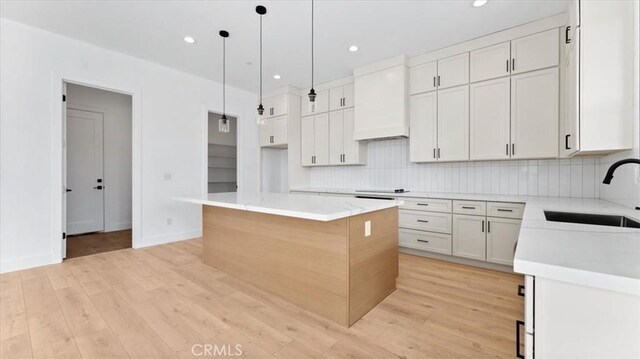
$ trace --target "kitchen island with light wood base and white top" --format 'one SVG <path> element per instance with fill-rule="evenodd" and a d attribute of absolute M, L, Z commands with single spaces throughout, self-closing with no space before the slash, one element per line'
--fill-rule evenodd
<path fill-rule="evenodd" d="M 209 194 L 205 264 L 343 326 L 396 289 L 396 200 Z"/>

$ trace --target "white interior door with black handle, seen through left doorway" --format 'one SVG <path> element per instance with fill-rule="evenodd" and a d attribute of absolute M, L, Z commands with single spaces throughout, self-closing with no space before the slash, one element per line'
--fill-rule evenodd
<path fill-rule="evenodd" d="M 67 234 L 104 230 L 103 114 L 67 109 Z"/>

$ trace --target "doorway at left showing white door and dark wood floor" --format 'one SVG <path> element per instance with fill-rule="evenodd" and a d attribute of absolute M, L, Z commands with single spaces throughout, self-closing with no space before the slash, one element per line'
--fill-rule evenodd
<path fill-rule="evenodd" d="M 63 258 L 132 247 L 132 96 L 63 84 Z"/>

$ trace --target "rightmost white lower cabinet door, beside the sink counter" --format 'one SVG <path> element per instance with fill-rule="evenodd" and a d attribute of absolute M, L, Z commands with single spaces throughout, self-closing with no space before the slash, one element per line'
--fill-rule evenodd
<path fill-rule="evenodd" d="M 487 217 L 487 262 L 513 265 L 522 221 Z"/>

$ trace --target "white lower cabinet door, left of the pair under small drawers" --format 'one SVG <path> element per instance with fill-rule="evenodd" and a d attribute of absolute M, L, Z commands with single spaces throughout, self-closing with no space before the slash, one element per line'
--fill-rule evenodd
<path fill-rule="evenodd" d="M 484 261 L 486 259 L 485 217 L 453 215 L 453 255 Z"/>

